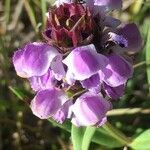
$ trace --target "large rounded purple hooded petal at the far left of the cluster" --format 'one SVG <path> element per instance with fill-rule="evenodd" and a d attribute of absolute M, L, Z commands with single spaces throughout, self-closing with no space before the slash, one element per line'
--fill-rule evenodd
<path fill-rule="evenodd" d="M 15 52 L 13 63 L 17 74 L 24 78 L 44 75 L 55 56 L 57 49 L 45 43 L 29 43 L 23 49 Z"/>

